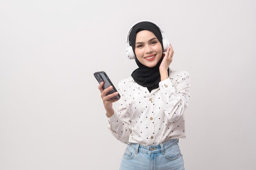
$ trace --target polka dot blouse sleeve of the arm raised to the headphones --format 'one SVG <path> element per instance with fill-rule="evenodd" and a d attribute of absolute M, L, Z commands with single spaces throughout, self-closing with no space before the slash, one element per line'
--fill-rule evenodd
<path fill-rule="evenodd" d="M 175 85 L 173 85 L 170 78 L 159 82 L 159 88 L 164 102 L 164 113 L 171 122 L 176 121 L 184 114 L 184 111 L 189 106 L 190 97 L 189 73 L 182 71 L 175 76 L 172 77 Z"/>

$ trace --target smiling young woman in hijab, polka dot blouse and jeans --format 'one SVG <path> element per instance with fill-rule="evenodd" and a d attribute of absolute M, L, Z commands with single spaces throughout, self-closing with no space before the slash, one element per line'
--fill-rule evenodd
<path fill-rule="evenodd" d="M 184 170 L 178 138 L 185 138 L 184 111 L 189 105 L 190 78 L 169 68 L 173 49 L 153 22 L 135 23 L 127 37 L 128 58 L 139 68 L 119 82 L 121 98 L 110 99 L 98 86 L 110 132 L 127 144 L 120 170 Z M 166 52 L 166 53 L 165 53 Z M 116 102 L 116 110 L 112 103 Z"/>

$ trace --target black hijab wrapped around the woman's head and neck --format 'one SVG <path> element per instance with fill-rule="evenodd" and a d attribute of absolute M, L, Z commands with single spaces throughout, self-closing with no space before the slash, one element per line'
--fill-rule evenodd
<path fill-rule="evenodd" d="M 162 50 L 164 52 L 163 48 L 163 42 L 162 42 L 162 33 L 157 25 L 153 24 L 152 22 L 139 22 L 135 26 L 133 26 L 132 31 L 129 35 L 129 42 L 130 46 L 132 46 L 132 50 L 135 54 L 135 42 L 136 42 L 136 34 L 139 31 L 148 30 L 155 34 L 156 38 L 159 40 L 159 42 L 162 45 Z M 163 55 L 163 54 L 162 54 Z M 137 59 L 137 56 L 135 54 L 135 62 L 139 66 L 139 68 L 135 69 L 132 72 L 132 78 L 134 81 L 146 88 L 148 88 L 148 91 L 151 92 L 153 89 L 159 87 L 159 82 L 161 81 L 160 72 L 159 72 L 159 66 L 163 60 L 163 57 L 159 60 L 156 66 L 154 67 L 147 67 L 141 64 L 139 60 Z M 168 75 L 169 75 L 169 68 L 168 68 Z"/>

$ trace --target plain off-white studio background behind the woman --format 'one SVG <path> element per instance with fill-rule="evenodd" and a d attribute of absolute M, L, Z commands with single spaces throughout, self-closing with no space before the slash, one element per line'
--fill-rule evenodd
<path fill-rule="evenodd" d="M 126 34 L 152 20 L 191 75 L 186 170 L 255 170 L 253 0 L 0 0 L 0 170 L 118 170 L 98 83 L 137 68 Z"/>

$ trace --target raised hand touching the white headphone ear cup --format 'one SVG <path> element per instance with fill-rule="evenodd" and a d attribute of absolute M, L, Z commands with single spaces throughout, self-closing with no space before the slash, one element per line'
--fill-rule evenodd
<path fill-rule="evenodd" d="M 170 44 L 168 47 L 166 54 L 163 54 L 164 59 L 162 60 L 160 66 L 159 66 L 159 71 L 161 72 L 166 72 L 173 61 L 173 48 Z"/>

